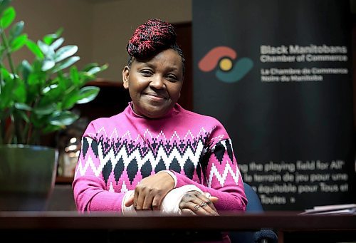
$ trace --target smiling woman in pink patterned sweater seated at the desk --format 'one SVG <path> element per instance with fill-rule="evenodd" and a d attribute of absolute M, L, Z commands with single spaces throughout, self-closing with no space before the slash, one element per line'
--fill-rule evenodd
<path fill-rule="evenodd" d="M 122 113 L 85 130 L 73 190 L 78 210 L 218 215 L 245 210 L 231 140 L 215 118 L 178 103 L 184 56 L 171 24 L 151 19 L 127 44 Z"/>

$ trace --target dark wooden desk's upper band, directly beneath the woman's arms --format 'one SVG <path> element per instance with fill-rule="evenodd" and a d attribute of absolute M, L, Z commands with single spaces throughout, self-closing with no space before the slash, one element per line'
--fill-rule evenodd
<path fill-rule="evenodd" d="M 0 229 L 194 229 L 247 230 L 356 230 L 355 214 L 313 214 L 299 212 L 241 213 L 220 216 L 167 216 L 142 212 L 122 216 L 110 212 L 0 212 Z"/>

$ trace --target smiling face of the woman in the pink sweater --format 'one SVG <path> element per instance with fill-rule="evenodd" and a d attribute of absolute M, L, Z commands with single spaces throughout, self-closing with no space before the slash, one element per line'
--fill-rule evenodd
<path fill-rule="evenodd" d="M 129 90 L 133 110 L 147 118 L 160 118 L 174 107 L 183 84 L 183 63 L 179 54 L 167 49 L 153 58 L 133 58 L 122 71 L 124 88 Z"/>

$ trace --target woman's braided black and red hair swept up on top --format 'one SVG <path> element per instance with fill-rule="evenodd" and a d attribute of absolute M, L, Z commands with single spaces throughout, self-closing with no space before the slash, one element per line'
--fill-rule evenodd
<path fill-rule="evenodd" d="M 169 48 L 177 51 L 182 58 L 184 67 L 184 54 L 176 42 L 177 34 L 172 24 L 160 19 L 150 19 L 145 24 L 137 27 L 126 50 L 129 53 L 128 66 L 131 66 L 132 58 L 151 58 L 157 53 Z"/>

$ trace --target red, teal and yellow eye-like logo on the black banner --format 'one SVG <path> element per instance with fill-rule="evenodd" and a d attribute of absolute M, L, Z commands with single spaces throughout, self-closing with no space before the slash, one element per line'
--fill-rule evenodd
<path fill-rule="evenodd" d="M 250 58 L 239 58 L 229 46 L 216 46 L 201 58 L 198 67 L 203 72 L 210 72 L 216 69 L 215 75 L 219 81 L 225 83 L 235 83 L 244 78 L 248 71 L 253 67 L 253 61 Z M 219 66 L 219 68 L 216 68 Z"/>

